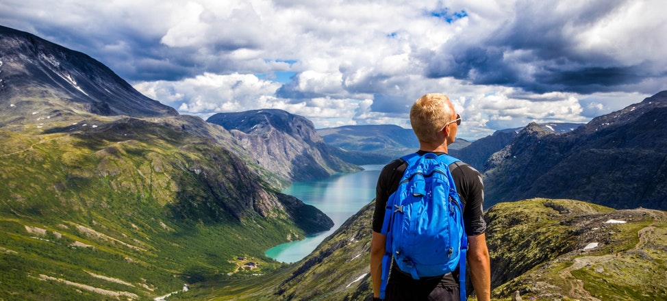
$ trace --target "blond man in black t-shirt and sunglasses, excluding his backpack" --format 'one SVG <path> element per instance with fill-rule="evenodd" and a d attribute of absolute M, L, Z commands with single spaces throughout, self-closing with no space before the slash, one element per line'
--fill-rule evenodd
<path fill-rule="evenodd" d="M 461 118 L 444 94 L 421 96 L 410 109 L 412 129 L 419 140 L 419 155 L 447 153 L 447 146 L 456 138 Z M 466 163 L 453 163 L 451 173 L 457 193 L 464 205 L 464 224 L 468 235 L 468 266 L 475 287 L 477 300 L 490 300 L 491 272 L 489 252 L 486 246 L 486 222 L 483 213 L 483 183 L 481 175 Z M 373 240 L 370 250 L 370 276 L 373 281 L 373 300 L 379 300 L 382 274 L 382 257 L 385 254 L 386 235 L 381 234 L 385 207 L 389 196 L 401 181 L 407 163 L 401 160 L 390 162 L 381 171 L 375 194 L 373 215 Z M 412 279 L 410 274 L 392 267 L 386 289 L 385 300 L 459 300 L 457 277 L 452 274 L 432 278 Z"/>

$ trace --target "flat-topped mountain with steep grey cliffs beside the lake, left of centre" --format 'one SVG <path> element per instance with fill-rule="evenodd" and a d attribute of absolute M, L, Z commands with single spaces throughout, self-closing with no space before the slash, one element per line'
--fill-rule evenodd
<path fill-rule="evenodd" d="M 283 110 L 218 113 L 207 122 L 227 129 L 260 166 L 288 181 L 360 170 L 332 155 L 310 120 Z"/>

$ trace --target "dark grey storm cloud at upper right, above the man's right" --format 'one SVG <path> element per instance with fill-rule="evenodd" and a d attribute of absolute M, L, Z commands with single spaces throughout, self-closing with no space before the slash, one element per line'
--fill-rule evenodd
<path fill-rule="evenodd" d="M 514 18 L 494 31 L 480 38 L 457 36 L 436 53 L 424 53 L 426 75 L 536 93 L 581 94 L 622 91 L 626 85 L 663 76 L 646 72 L 644 62 L 626 62 L 603 48 L 582 51 L 588 41 L 577 35 L 609 22 L 627 1 L 586 3 L 579 11 L 559 12 L 559 2 L 520 1 Z M 623 47 L 618 43 L 616 47 Z"/>

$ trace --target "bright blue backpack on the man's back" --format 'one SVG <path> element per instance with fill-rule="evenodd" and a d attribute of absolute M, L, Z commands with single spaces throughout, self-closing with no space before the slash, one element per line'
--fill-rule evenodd
<path fill-rule="evenodd" d="M 463 206 L 449 165 L 449 155 L 416 153 L 407 162 L 399 188 L 387 201 L 382 234 L 387 236 L 382 259 L 380 298 L 385 298 L 392 257 L 399 270 L 412 278 L 441 276 L 458 266 L 461 300 L 466 300 L 468 237 Z"/>

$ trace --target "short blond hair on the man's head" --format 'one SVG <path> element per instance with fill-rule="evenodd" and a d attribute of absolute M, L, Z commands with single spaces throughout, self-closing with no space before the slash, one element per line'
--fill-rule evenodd
<path fill-rule="evenodd" d="M 410 109 L 412 131 L 421 142 L 436 142 L 440 130 L 452 120 L 454 107 L 445 94 L 430 93 L 418 98 Z"/>

